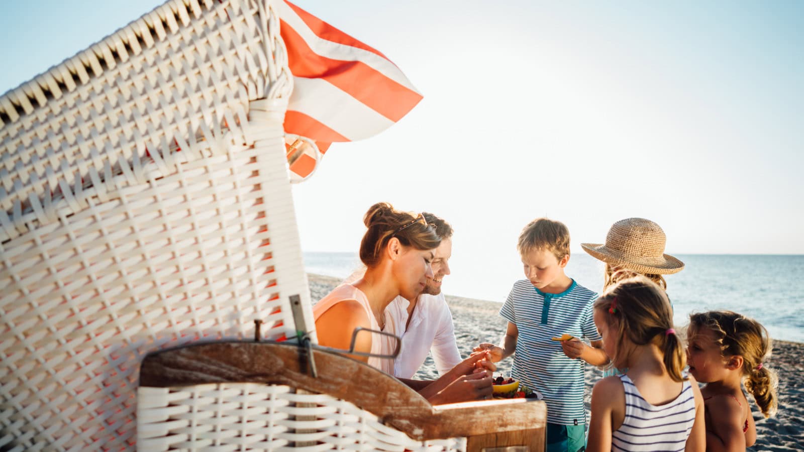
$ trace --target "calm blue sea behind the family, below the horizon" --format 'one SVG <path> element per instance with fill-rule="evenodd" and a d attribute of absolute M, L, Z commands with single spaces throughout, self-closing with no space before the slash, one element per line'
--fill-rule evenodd
<path fill-rule="evenodd" d="M 704 310 L 733 310 L 757 319 L 773 339 L 804 343 L 804 256 L 676 254 L 686 265 L 667 275 L 667 294 L 677 327 Z M 357 253 L 304 253 L 307 273 L 347 277 L 361 267 Z M 513 262 L 510 262 L 513 261 Z M 490 263 L 493 262 L 493 263 Z M 513 283 L 523 279 L 517 257 L 453 259 L 445 294 L 502 304 Z M 600 291 L 604 265 L 580 252 L 565 269 L 581 286 Z"/>

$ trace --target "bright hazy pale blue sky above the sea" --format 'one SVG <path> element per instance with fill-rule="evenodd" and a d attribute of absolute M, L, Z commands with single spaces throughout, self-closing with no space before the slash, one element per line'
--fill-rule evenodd
<path fill-rule="evenodd" d="M 0 92 L 159 3 L 3 2 Z M 305 251 L 356 251 L 388 201 L 448 220 L 467 268 L 518 265 L 539 216 L 573 252 L 641 216 L 668 253 L 804 253 L 804 2 L 296 4 L 424 95 L 293 187 Z"/>

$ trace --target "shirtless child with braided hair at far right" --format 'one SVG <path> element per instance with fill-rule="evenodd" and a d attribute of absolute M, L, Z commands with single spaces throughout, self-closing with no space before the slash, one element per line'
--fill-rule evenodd
<path fill-rule="evenodd" d="M 690 373 L 706 383 L 707 450 L 745 450 L 757 440 L 748 399 L 765 417 L 776 413 L 777 375 L 766 365 L 773 345 L 752 318 L 726 310 L 690 315 L 687 328 Z"/>

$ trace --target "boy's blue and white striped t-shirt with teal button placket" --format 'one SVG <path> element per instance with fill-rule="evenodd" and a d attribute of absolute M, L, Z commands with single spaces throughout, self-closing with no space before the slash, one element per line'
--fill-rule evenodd
<path fill-rule="evenodd" d="M 531 281 L 516 281 L 500 315 L 516 325 L 511 376 L 542 393 L 548 405 L 548 422 L 584 425 L 584 364 L 572 360 L 561 343 L 550 338 L 563 334 L 601 340 L 592 320 L 592 290 L 575 281 L 561 294 L 545 294 Z"/>

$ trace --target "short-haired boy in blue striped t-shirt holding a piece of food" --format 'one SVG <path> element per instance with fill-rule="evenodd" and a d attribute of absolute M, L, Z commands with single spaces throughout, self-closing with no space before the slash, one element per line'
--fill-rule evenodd
<path fill-rule="evenodd" d="M 548 451 L 584 450 L 584 362 L 609 362 L 592 318 L 597 294 L 564 274 L 569 231 L 563 223 L 531 221 L 517 248 L 527 279 L 514 283 L 500 309 L 508 321 L 506 335 L 499 346 L 481 343 L 475 351 L 490 350 L 493 361 L 513 354 L 511 376 L 542 393 L 548 405 Z M 564 335 L 572 338 L 556 340 Z"/>

